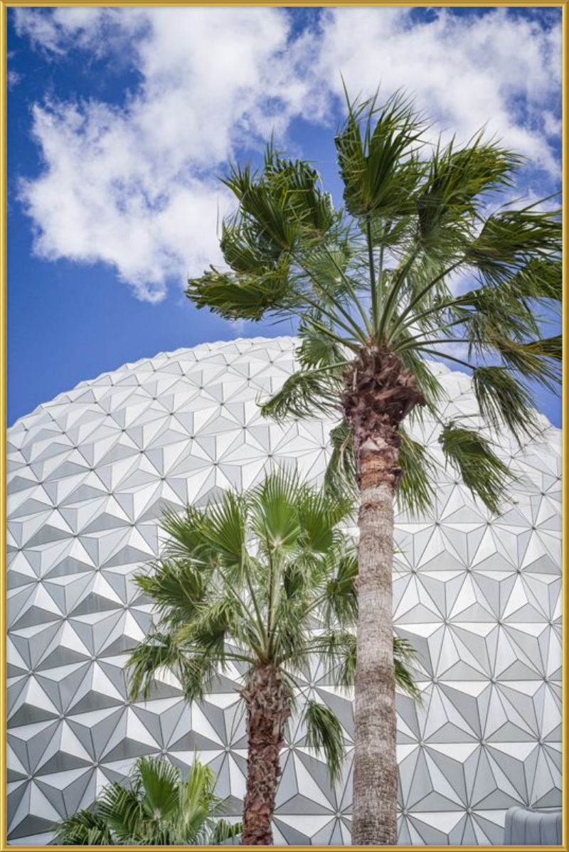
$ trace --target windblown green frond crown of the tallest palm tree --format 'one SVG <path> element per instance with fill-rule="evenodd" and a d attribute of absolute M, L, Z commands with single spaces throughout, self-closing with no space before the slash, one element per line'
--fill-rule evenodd
<path fill-rule="evenodd" d="M 558 211 L 497 207 L 521 158 L 496 141 L 480 133 L 463 147 L 433 145 L 427 135 L 403 95 L 382 106 L 376 99 L 349 105 L 336 135 L 342 210 L 311 165 L 281 158 L 272 146 L 260 172 L 231 170 L 225 182 L 238 209 L 221 237 L 229 269 L 190 280 L 187 295 L 229 319 L 300 320 L 301 369 L 265 413 L 343 409 L 353 423 L 350 383 L 365 373 L 371 381 L 381 363 L 376 384 L 394 402 L 401 376 L 409 376 L 399 421 L 423 405 L 440 419 L 443 391 L 422 360 L 427 355 L 472 369 L 489 427 L 505 424 L 520 438 L 536 428 L 527 382 L 550 388 L 561 354 L 560 337 L 541 331 L 560 307 Z M 468 423 L 441 425 L 445 457 L 496 510 L 507 469 L 491 441 Z M 425 508 L 433 460 L 403 427 L 399 434 L 407 474 L 399 498 Z M 348 423 L 333 435 L 344 460 L 353 437 Z"/>

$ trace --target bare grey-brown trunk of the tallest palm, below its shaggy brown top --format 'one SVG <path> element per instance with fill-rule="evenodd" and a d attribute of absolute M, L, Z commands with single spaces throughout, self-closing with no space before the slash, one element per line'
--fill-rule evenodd
<path fill-rule="evenodd" d="M 366 846 L 397 843 L 392 613 L 396 463 L 382 466 L 381 454 L 368 452 L 365 445 L 360 458 L 352 843 Z"/>

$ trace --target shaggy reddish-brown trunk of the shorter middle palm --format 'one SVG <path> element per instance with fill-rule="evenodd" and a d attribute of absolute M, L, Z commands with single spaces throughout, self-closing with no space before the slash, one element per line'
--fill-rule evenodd
<path fill-rule="evenodd" d="M 280 776 L 284 724 L 290 716 L 290 691 L 271 665 L 252 671 L 241 691 L 247 707 L 247 792 L 244 802 L 244 846 L 273 844 L 274 800 Z"/>

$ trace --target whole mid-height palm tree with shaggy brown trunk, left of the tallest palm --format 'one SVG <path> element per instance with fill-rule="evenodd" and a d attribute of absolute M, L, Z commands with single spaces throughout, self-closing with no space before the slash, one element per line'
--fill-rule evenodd
<path fill-rule="evenodd" d="M 352 506 L 277 470 L 243 495 L 227 492 L 204 510 L 187 506 L 183 515 L 165 515 L 164 553 L 152 573 L 135 578 L 158 621 L 129 657 L 133 698 L 148 698 L 164 670 L 175 674 L 188 700 L 215 688 L 212 679 L 228 664 L 244 671 L 245 845 L 273 843 L 279 752 L 307 666 L 319 659 L 334 682 L 353 682 L 357 561 L 338 528 Z M 391 647 L 399 684 L 417 694 L 405 669 L 410 646 L 392 636 Z M 340 722 L 313 699 L 304 699 L 299 712 L 307 745 L 324 753 L 336 780 L 344 752 Z"/>

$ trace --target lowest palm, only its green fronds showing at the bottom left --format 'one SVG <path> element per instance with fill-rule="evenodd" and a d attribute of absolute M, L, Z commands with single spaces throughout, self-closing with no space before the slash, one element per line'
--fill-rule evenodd
<path fill-rule="evenodd" d="M 221 820 L 210 767 L 195 761 L 187 780 L 164 759 L 141 757 L 128 787 L 113 781 L 91 810 L 55 829 L 60 846 L 170 846 L 217 844 L 239 836 L 240 825 Z"/>

